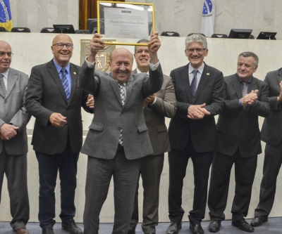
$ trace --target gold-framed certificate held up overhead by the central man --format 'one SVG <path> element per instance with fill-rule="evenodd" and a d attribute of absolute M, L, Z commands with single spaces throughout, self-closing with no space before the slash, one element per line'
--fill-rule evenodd
<path fill-rule="evenodd" d="M 97 10 L 97 32 L 104 32 L 105 37 L 148 39 L 155 32 L 154 4 L 97 1 Z M 118 41 L 105 44 L 148 46 Z"/>

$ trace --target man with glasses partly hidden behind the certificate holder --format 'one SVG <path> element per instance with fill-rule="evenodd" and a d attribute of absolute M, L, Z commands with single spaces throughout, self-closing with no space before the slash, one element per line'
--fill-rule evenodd
<path fill-rule="evenodd" d="M 141 39 L 137 43 L 148 43 Z M 135 46 L 135 61 L 137 68 L 132 74 L 145 72 L 149 75 L 149 48 L 148 46 Z M 176 95 L 174 93 L 171 77 L 164 74 L 161 89 L 145 99 L 144 116 L 148 128 L 149 138 L 154 153 L 141 159 L 140 174 L 144 188 L 142 230 L 146 234 L 156 233 L 159 223 L 159 183 L 161 171 L 164 167 L 164 152 L 171 150 L 168 139 L 165 117 L 171 118 L 176 114 Z M 138 187 L 137 184 L 133 216 L 131 218 L 128 234 L 134 234 L 138 223 Z"/>

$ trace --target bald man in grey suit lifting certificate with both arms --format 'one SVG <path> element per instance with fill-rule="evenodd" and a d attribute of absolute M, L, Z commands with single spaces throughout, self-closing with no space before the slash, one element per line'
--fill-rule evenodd
<path fill-rule="evenodd" d="M 90 41 L 79 86 L 95 97 L 95 115 L 81 152 L 88 156 L 85 186 L 84 233 L 98 233 L 99 214 L 114 177 L 113 234 L 127 234 L 140 174 L 141 157 L 153 153 L 143 115 L 143 100 L 161 89 L 163 74 L 157 56 L 158 33 L 149 39 L 149 77 L 131 74 L 133 55 L 116 48 L 110 56 L 111 73 L 94 70 L 95 56 L 104 48 L 101 34 Z"/>

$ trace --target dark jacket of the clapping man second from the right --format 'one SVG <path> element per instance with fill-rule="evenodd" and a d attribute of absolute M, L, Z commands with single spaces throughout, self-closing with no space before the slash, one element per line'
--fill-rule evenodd
<path fill-rule="evenodd" d="M 254 108 L 247 105 L 239 107 L 242 89 L 238 74 L 224 77 L 225 105 L 216 124 L 216 152 L 234 155 L 240 151 L 242 157 L 252 157 L 262 152 L 258 117 L 268 117 L 270 106 L 268 86 L 252 77 L 247 93 L 258 89 L 258 100 Z"/>

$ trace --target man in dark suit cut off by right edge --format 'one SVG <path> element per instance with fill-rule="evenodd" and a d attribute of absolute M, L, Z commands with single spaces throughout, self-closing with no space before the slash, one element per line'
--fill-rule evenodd
<path fill-rule="evenodd" d="M 282 163 L 282 68 L 267 73 L 264 82 L 269 85 L 271 113 L 262 124 L 262 141 L 266 143 L 264 169 L 252 226 L 260 226 L 267 221 L 274 204 L 276 179 Z"/>

